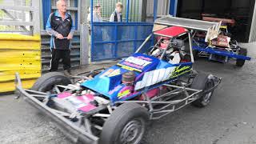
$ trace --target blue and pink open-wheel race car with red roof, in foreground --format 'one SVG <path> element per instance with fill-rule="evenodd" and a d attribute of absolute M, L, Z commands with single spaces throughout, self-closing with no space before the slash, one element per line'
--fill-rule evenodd
<path fill-rule="evenodd" d="M 155 22 L 154 46 L 144 47 L 151 35 L 135 54 L 107 69 L 71 78 L 47 73 L 31 90 L 22 88 L 16 74 L 17 94 L 48 114 L 74 142 L 138 144 L 150 120 L 190 103 L 208 106 L 221 82 L 213 74 L 193 70 L 190 30 L 169 20 Z"/>

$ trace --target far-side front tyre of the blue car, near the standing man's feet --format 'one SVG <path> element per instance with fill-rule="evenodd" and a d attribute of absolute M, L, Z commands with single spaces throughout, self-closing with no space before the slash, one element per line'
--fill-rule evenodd
<path fill-rule="evenodd" d="M 66 86 L 70 83 L 70 78 L 67 78 L 64 74 L 58 72 L 50 72 L 43 74 L 42 77 L 38 78 L 31 89 L 41 92 L 51 92 L 55 85 Z"/>

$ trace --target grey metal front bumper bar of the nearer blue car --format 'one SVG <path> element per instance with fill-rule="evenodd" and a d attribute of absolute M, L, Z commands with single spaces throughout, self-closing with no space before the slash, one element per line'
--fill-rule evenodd
<path fill-rule="evenodd" d="M 72 142 L 86 142 L 90 144 L 98 143 L 98 137 L 90 134 L 85 129 L 82 129 L 79 126 L 75 125 L 73 122 L 67 120 L 61 114 L 58 114 L 56 111 L 46 106 L 46 104 L 40 102 L 37 98 L 34 98 L 33 94 L 30 94 L 34 93 L 46 95 L 46 93 L 23 89 L 22 81 L 19 77 L 19 74 L 16 73 L 15 77 L 16 93 L 18 94 L 18 96 L 22 95 L 25 98 L 26 102 L 29 102 L 32 106 L 38 108 L 39 110 L 42 110 L 42 112 L 52 118 L 52 120 L 54 120 L 54 122 L 57 124 L 58 128 L 62 130 L 63 133 L 66 134 L 66 136 L 70 138 Z"/>

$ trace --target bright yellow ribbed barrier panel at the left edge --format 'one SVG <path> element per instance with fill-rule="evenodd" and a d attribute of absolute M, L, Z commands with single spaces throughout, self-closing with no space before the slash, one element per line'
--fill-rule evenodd
<path fill-rule="evenodd" d="M 0 93 L 15 89 L 16 72 L 26 89 L 41 76 L 40 35 L 0 34 Z"/>

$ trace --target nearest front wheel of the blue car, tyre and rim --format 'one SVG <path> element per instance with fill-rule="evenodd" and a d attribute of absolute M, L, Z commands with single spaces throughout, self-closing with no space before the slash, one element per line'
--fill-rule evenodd
<path fill-rule="evenodd" d="M 100 144 L 138 144 L 146 130 L 149 114 L 137 103 L 124 103 L 106 119 Z"/>

